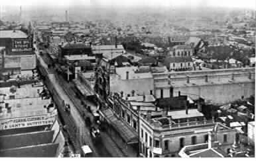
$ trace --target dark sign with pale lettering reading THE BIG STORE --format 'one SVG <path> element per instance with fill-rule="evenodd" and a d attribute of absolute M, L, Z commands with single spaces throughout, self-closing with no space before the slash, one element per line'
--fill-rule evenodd
<path fill-rule="evenodd" d="M 12 39 L 12 52 L 29 52 L 32 51 L 32 41 L 28 38 Z"/>

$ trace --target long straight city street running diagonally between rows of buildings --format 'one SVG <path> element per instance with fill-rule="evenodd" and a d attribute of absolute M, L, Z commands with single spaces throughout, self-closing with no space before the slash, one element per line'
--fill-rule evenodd
<path fill-rule="evenodd" d="M 81 100 L 76 98 L 76 94 L 74 93 L 74 91 L 71 88 L 72 83 L 70 82 L 68 84 L 68 82 L 66 82 L 62 78 L 62 76 L 56 77 L 57 74 L 54 72 L 54 70 L 48 69 L 48 65 L 45 63 L 45 61 L 50 61 L 50 59 L 47 59 L 46 57 L 44 57 L 44 59 L 43 59 L 38 54 L 38 50 L 36 50 L 36 51 L 37 51 L 36 52 L 37 58 L 40 61 L 40 64 L 44 67 L 44 69 L 47 69 L 47 71 L 49 73 L 48 78 L 50 79 L 50 82 L 52 82 L 52 84 L 54 84 L 54 88 L 56 89 L 56 92 L 58 94 L 60 94 L 62 100 L 65 100 L 65 104 L 70 104 L 70 114 L 74 118 L 76 125 L 79 127 L 80 139 L 84 142 L 84 144 L 90 145 L 90 147 L 92 148 L 92 150 L 95 153 L 94 154 L 95 156 L 110 157 L 110 156 L 112 156 L 111 154 L 115 154 L 115 156 L 119 156 L 119 157 L 124 156 L 124 154 L 121 152 L 121 150 L 118 149 L 118 147 L 115 145 L 115 143 L 113 143 L 111 138 L 109 136 L 107 136 L 106 133 L 101 132 L 101 134 L 102 134 L 101 140 L 102 140 L 102 143 L 104 146 L 102 146 L 101 144 L 96 144 L 92 141 L 92 137 L 90 135 L 90 130 L 85 125 L 85 121 L 84 121 L 84 118 L 82 117 L 82 113 L 80 113 L 76 108 L 76 106 L 79 107 L 80 109 L 82 109 L 84 107 L 80 103 Z M 66 89 L 66 90 L 64 90 L 64 89 Z M 84 101 L 87 105 L 92 107 L 92 110 L 96 109 L 96 106 L 92 102 L 90 102 L 88 100 L 84 100 Z M 61 108 L 61 107 L 59 107 L 59 108 Z M 84 111 L 85 111 L 86 116 L 90 117 L 90 119 L 92 121 L 94 119 L 92 113 L 89 113 L 86 110 L 84 110 Z M 106 147 L 109 145 L 113 145 L 113 148 L 107 149 Z M 109 153 L 109 150 L 111 150 L 111 153 Z"/>

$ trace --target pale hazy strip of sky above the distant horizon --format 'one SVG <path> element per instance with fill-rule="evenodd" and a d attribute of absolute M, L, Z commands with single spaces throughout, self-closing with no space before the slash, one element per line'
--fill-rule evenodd
<path fill-rule="evenodd" d="M 235 7 L 256 9 L 255 0 L 1 0 L 0 5 L 88 5 L 148 7 Z"/>

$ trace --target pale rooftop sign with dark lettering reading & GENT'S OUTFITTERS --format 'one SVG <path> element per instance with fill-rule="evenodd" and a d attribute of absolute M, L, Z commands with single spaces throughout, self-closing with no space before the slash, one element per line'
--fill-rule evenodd
<path fill-rule="evenodd" d="M 35 127 L 52 125 L 56 115 L 37 115 L 31 117 L 19 117 L 14 119 L 0 119 L 0 130 L 17 129 L 22 127 Z"/>

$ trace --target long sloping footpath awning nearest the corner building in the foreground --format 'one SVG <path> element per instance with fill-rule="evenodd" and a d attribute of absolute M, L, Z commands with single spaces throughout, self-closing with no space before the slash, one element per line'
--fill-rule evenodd
<path fill-rule="evenodd" d="M 112 125 L 127 144 L 138 143 L 138 134 L 135 129 L 118 119 L 110 109 L 101 111 L 107 122 Z"/>

